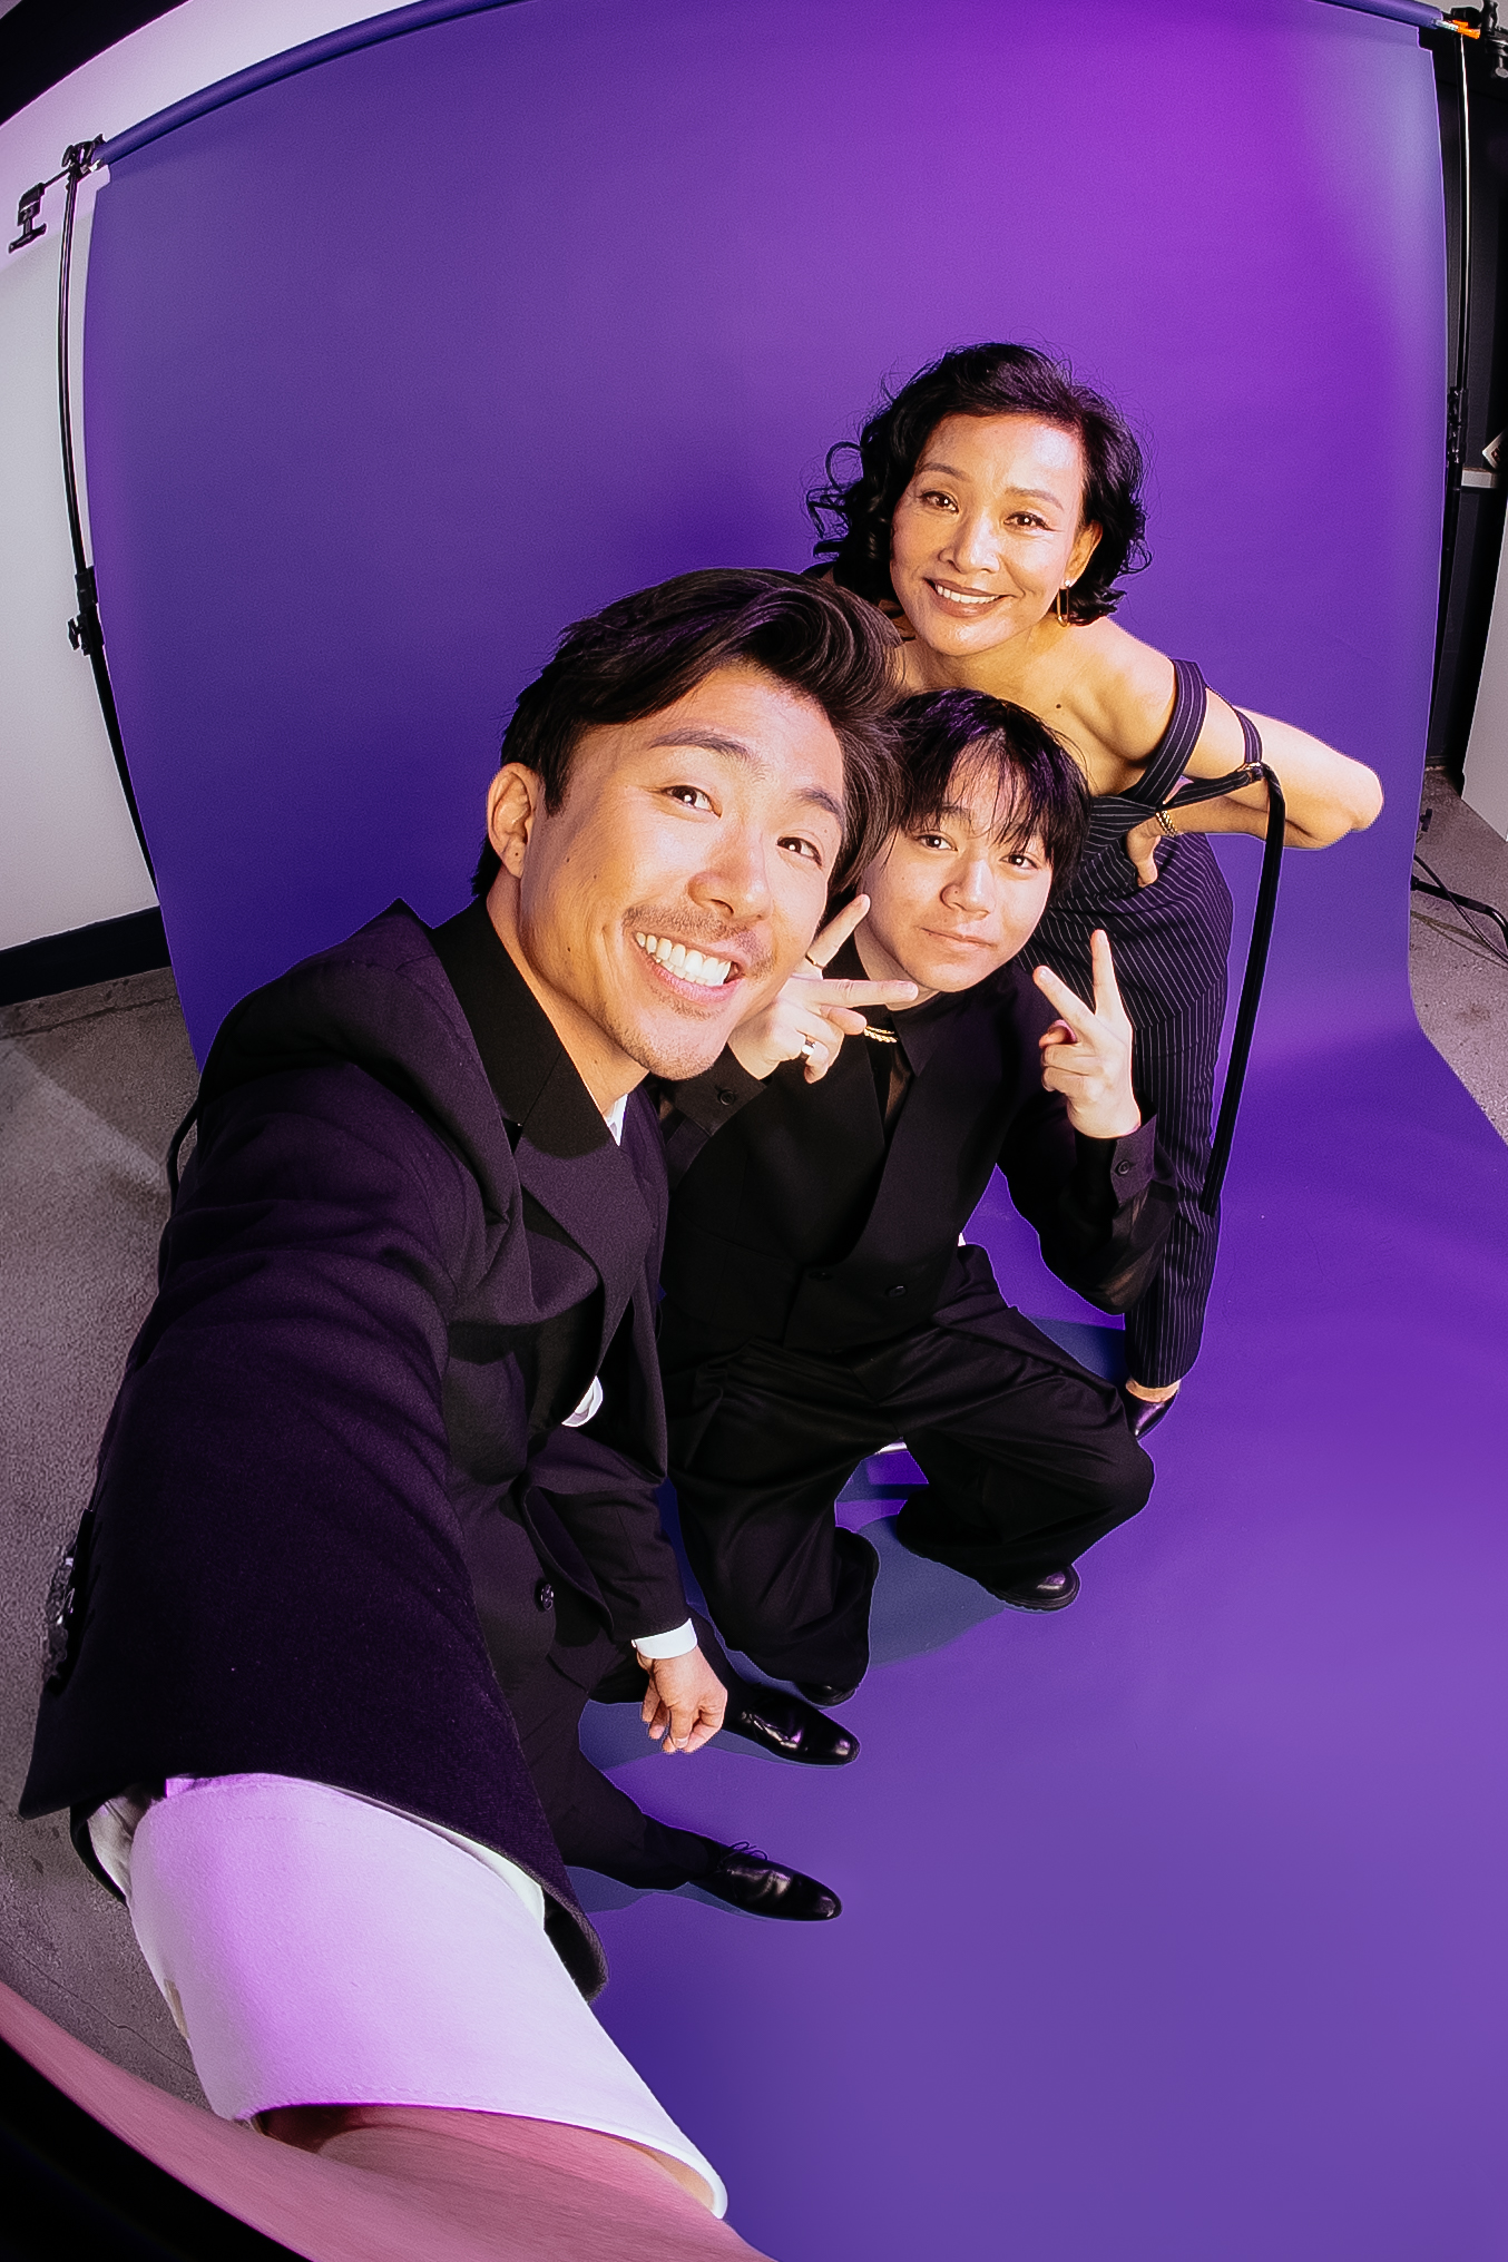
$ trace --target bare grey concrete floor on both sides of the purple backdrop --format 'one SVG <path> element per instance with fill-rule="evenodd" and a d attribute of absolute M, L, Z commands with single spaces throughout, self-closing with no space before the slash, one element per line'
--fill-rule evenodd
<path fill-rule="evenodd" d="M 1508 844 L 1427 778 L 1424 855 L 1508 909 Z M 1508 1138 L 1508 955 L 1413 898 L 1420 1022 Z M 1485 936 L 1485 939 L 1483 939 Z M 194 1093 L 170 973 L 0 1011 L 0 1979 L 131 2072 L 201 2101 L 124 1909 L 81 1868 L 61 1816 L 16 1821 L 52 1565 L 88 1500 L 120 1369 L 154 1292 L 163 1154 Z"/>

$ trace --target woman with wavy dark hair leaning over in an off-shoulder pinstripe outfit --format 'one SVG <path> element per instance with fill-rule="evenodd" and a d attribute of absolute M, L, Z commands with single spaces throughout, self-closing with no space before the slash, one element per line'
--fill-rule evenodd
<path fill-rule="evenodd" d="M 1176 817 L 1178 780 L 1271 762 L 1286 844 L 1370 826 L 1377 776 L 1271 717 L 1205 692 L 1198 667 L 1115 627 L 1117 579 L 1144 563 L 1142 452 L 1117 409 L 1029 346 L 965 346 L 922 369 L 857 441 L 859 473 L 809 498 L 832 577 L 902 629 L 907 690 L 1013 699 L 1083 762 L 1094 819 L 1074 887 L 1029 964 L 1087 995 L 1103 927 L 1135 1031 L 1135 1086 L 1158 1167 L 1180 1192 L 1160 1278 L 1126 1316 L 1126 1414 L 1144 1434 L 1198 1353 L 1219 1219 L 1198 1206 L 1225 1013 L 1230 889 L 1207 832 L 1266 828 L 1266 787 Z"/>

